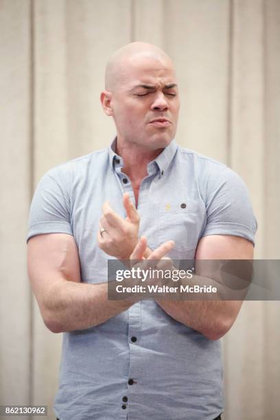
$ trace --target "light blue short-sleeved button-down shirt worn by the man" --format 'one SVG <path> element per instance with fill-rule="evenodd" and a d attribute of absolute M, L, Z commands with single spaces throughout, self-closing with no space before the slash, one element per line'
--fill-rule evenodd
<path fill-rule="evenodd" d="M 108 280 L 108 255 L 96 242 L 104 201 L 122 217 L 124 192 L 135 202 L 115 142 L 112 148 L 49 170 L 30 209 L 27 239 L 73 235 L 86 283 Z M 151 248 L 174 240 L 174 259 L 193 259 L 205 235 L 253 242 L 257 229 L 240 176 L 175 141 L 148 164 L 137 210 L 139 235 Z M 223 410 L 220 340 L 178 323 L 154 301 L 135 303 L 97 327 L 63 334 L 54 409 L 60 420 L 213 420 Z"/>

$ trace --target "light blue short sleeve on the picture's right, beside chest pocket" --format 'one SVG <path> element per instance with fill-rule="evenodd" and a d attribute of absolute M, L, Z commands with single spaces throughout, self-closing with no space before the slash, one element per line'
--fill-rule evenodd
<path fill-rule="evenodd" d="M 233 235 L 244 237 L 255 245 L 257 220 L 254 216 L 248 189 L 229 167 L 207 184 L 207 224 L 202 236 Z"/>

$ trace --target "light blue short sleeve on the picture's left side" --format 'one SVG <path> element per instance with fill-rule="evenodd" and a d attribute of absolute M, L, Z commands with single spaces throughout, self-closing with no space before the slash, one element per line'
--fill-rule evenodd
<path fill-rule="evenodd" d="M 70 215 L 69 174 L 61 174 L 58 167 L 40 179 L 28 221 L 27 241 L 42 233 L 73 235 Z"/>

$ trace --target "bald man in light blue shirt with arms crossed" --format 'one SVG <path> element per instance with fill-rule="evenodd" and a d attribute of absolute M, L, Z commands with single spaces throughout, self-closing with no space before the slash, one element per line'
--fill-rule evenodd
<path fill-rule="evenodd" d="M 32 288 L 47 327 L 65 333 L 56 415 L 218 419 L 218 339 L 242 302 L 108 300 L 107 260 L 252 259 L 246 187 L 174 142 L 178 85 L 157 47 L 116 51 L 101 102 L 115 141 L 47 172 L 30 211 Z"/>

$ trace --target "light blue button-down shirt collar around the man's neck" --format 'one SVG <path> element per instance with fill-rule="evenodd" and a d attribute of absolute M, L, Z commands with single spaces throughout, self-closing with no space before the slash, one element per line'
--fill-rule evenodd
<path fill-rule="evenodd" d="M 123 163 L 121 156 L 119 156 L 115 150 L 117 145 L 117 137 L 113 140 L 112 144 L 109 148 L 109 161 L 110 166 L 114 167 L 114 161 L 115 159 L 119 159 L 120 163 Z M 159 154 L 159 156 L 154 159 L 154 161 L 150 162 L 149 165 L 152 165 L 153 162 L 156 163 L 156 165 L 159 167 L 159 171 L 161 172 L 161 175 L 164 174 L 164 172 L 169 167 L 172 159 L 174 158 L 176 151 L 178 149 L 178 145 L 175 140 L 172 140 L 169 145 Z"/>

